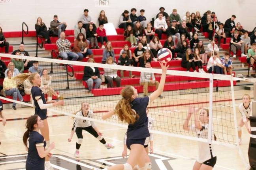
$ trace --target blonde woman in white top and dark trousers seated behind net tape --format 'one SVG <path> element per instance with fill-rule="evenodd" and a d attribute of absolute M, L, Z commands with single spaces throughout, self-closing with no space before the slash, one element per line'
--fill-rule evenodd
<path fill-rule="evenodd" d="M 107 57 L 106 64 L 117 65 L 116 63 L 114 63 L 113 57 Z M 117 87 L 120 87 L 121 79 L 117 75 L 117 70 L 116 69 L 104 68 L 104 76 L 105 76 L 105 79 L 107 81 L 107 86 L 108 87 L 114 87 L 113 81 L 115 81 L 117 83 Z"/>

